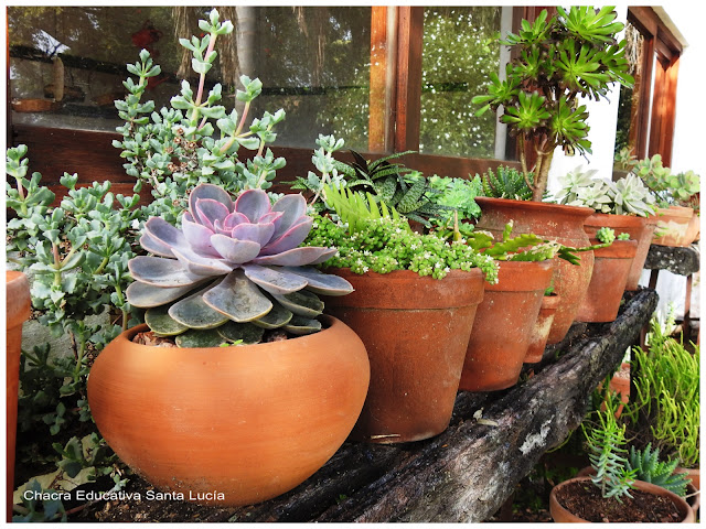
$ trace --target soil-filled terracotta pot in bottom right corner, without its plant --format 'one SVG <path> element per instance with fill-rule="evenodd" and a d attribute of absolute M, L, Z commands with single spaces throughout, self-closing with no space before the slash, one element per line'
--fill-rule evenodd
<path fill-rule="evenodd" d="M 640 489 L 623 496 L 603 498 L 589 477 L 577 477 L 557 485 L 549 498 L 555 521 L 590 522 L 681 522 L 694 521 L 694 514 L 678 496 L 650 483 L 635 482 Z M 569 515 L 564 518 L 563 515 Z M 574 517 L 571 519 L 570 517 Z M 579 518 L 579 519 L 576 519 Z"/>

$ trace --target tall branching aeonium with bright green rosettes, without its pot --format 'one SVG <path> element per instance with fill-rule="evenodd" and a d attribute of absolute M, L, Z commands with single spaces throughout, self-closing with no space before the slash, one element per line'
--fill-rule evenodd
<path fill-rule="evenodd" d="M 623 24 L 616 22 L 612 7 L 557 8 L 549 18 L 543 10 L 534 22 L 523 20 L 517 34 L 502 44 L 515 52 L 505 69 L 505 79 L 491 75 L 488 94 L 472 100 L 477 115 L 502 107 L 500 120 L 516 134 L 522 172 L 532 199 L 539 202 L 547 187 L 549 166 L 556 148 L 590 153 L 588 110 L 580 98 L 600 100 L 613 83 L 632 86 L 624 57 L 625 42 L 616 35 Z M 536 154 L 528 166 L 527 150 Z"/>

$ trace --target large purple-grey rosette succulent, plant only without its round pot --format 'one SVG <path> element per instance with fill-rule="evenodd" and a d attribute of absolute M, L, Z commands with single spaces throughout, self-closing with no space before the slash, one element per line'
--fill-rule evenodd
<path fill-rule="evenodd" d="M 181 229 L 151 217 L 140 238 L 153 256 L 129 261 L 135 282 L 128 301 L 147 309 L 146 323 L 160 336 L 176 335 L 181 347 L 223 342 L 257 343 L 264 328 L 292 334 L 321 328 L 317 294 L 343 295 L 351 284 L 317 264 L 335 248 L 298 246 L 312 227 L 301 195 L 274 205 L 261 190 L 234 202 L 213 184 L 196 186 Z"/>

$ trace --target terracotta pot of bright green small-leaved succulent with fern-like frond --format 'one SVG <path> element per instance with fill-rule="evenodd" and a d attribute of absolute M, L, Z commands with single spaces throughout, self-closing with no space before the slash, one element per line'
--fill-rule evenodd
<path fill-rule="evenodd" d="M 449 424 L 483 276 L 498 266 L 462 241 L 413 231 L 384 203 L 325 186 L 340 217 L 317 219 L 307 244 L 335 246 L 324 267 L 353 284 L 327 312 L 363 339 L 371 386 L 353 438 L 374 443 L 418 441 Z"/>

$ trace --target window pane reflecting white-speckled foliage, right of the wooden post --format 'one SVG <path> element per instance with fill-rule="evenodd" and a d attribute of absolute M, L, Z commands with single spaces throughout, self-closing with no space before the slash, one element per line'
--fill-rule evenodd
<path fill-rule="evenodd" d="M 512 8 L 505 8 L 512 9 Z M 494 112 L 474 117 L 471 99 L 500 72 L 503 8 L 431 7 L 424 13 L 420 151 L 495 156 Z"/>

